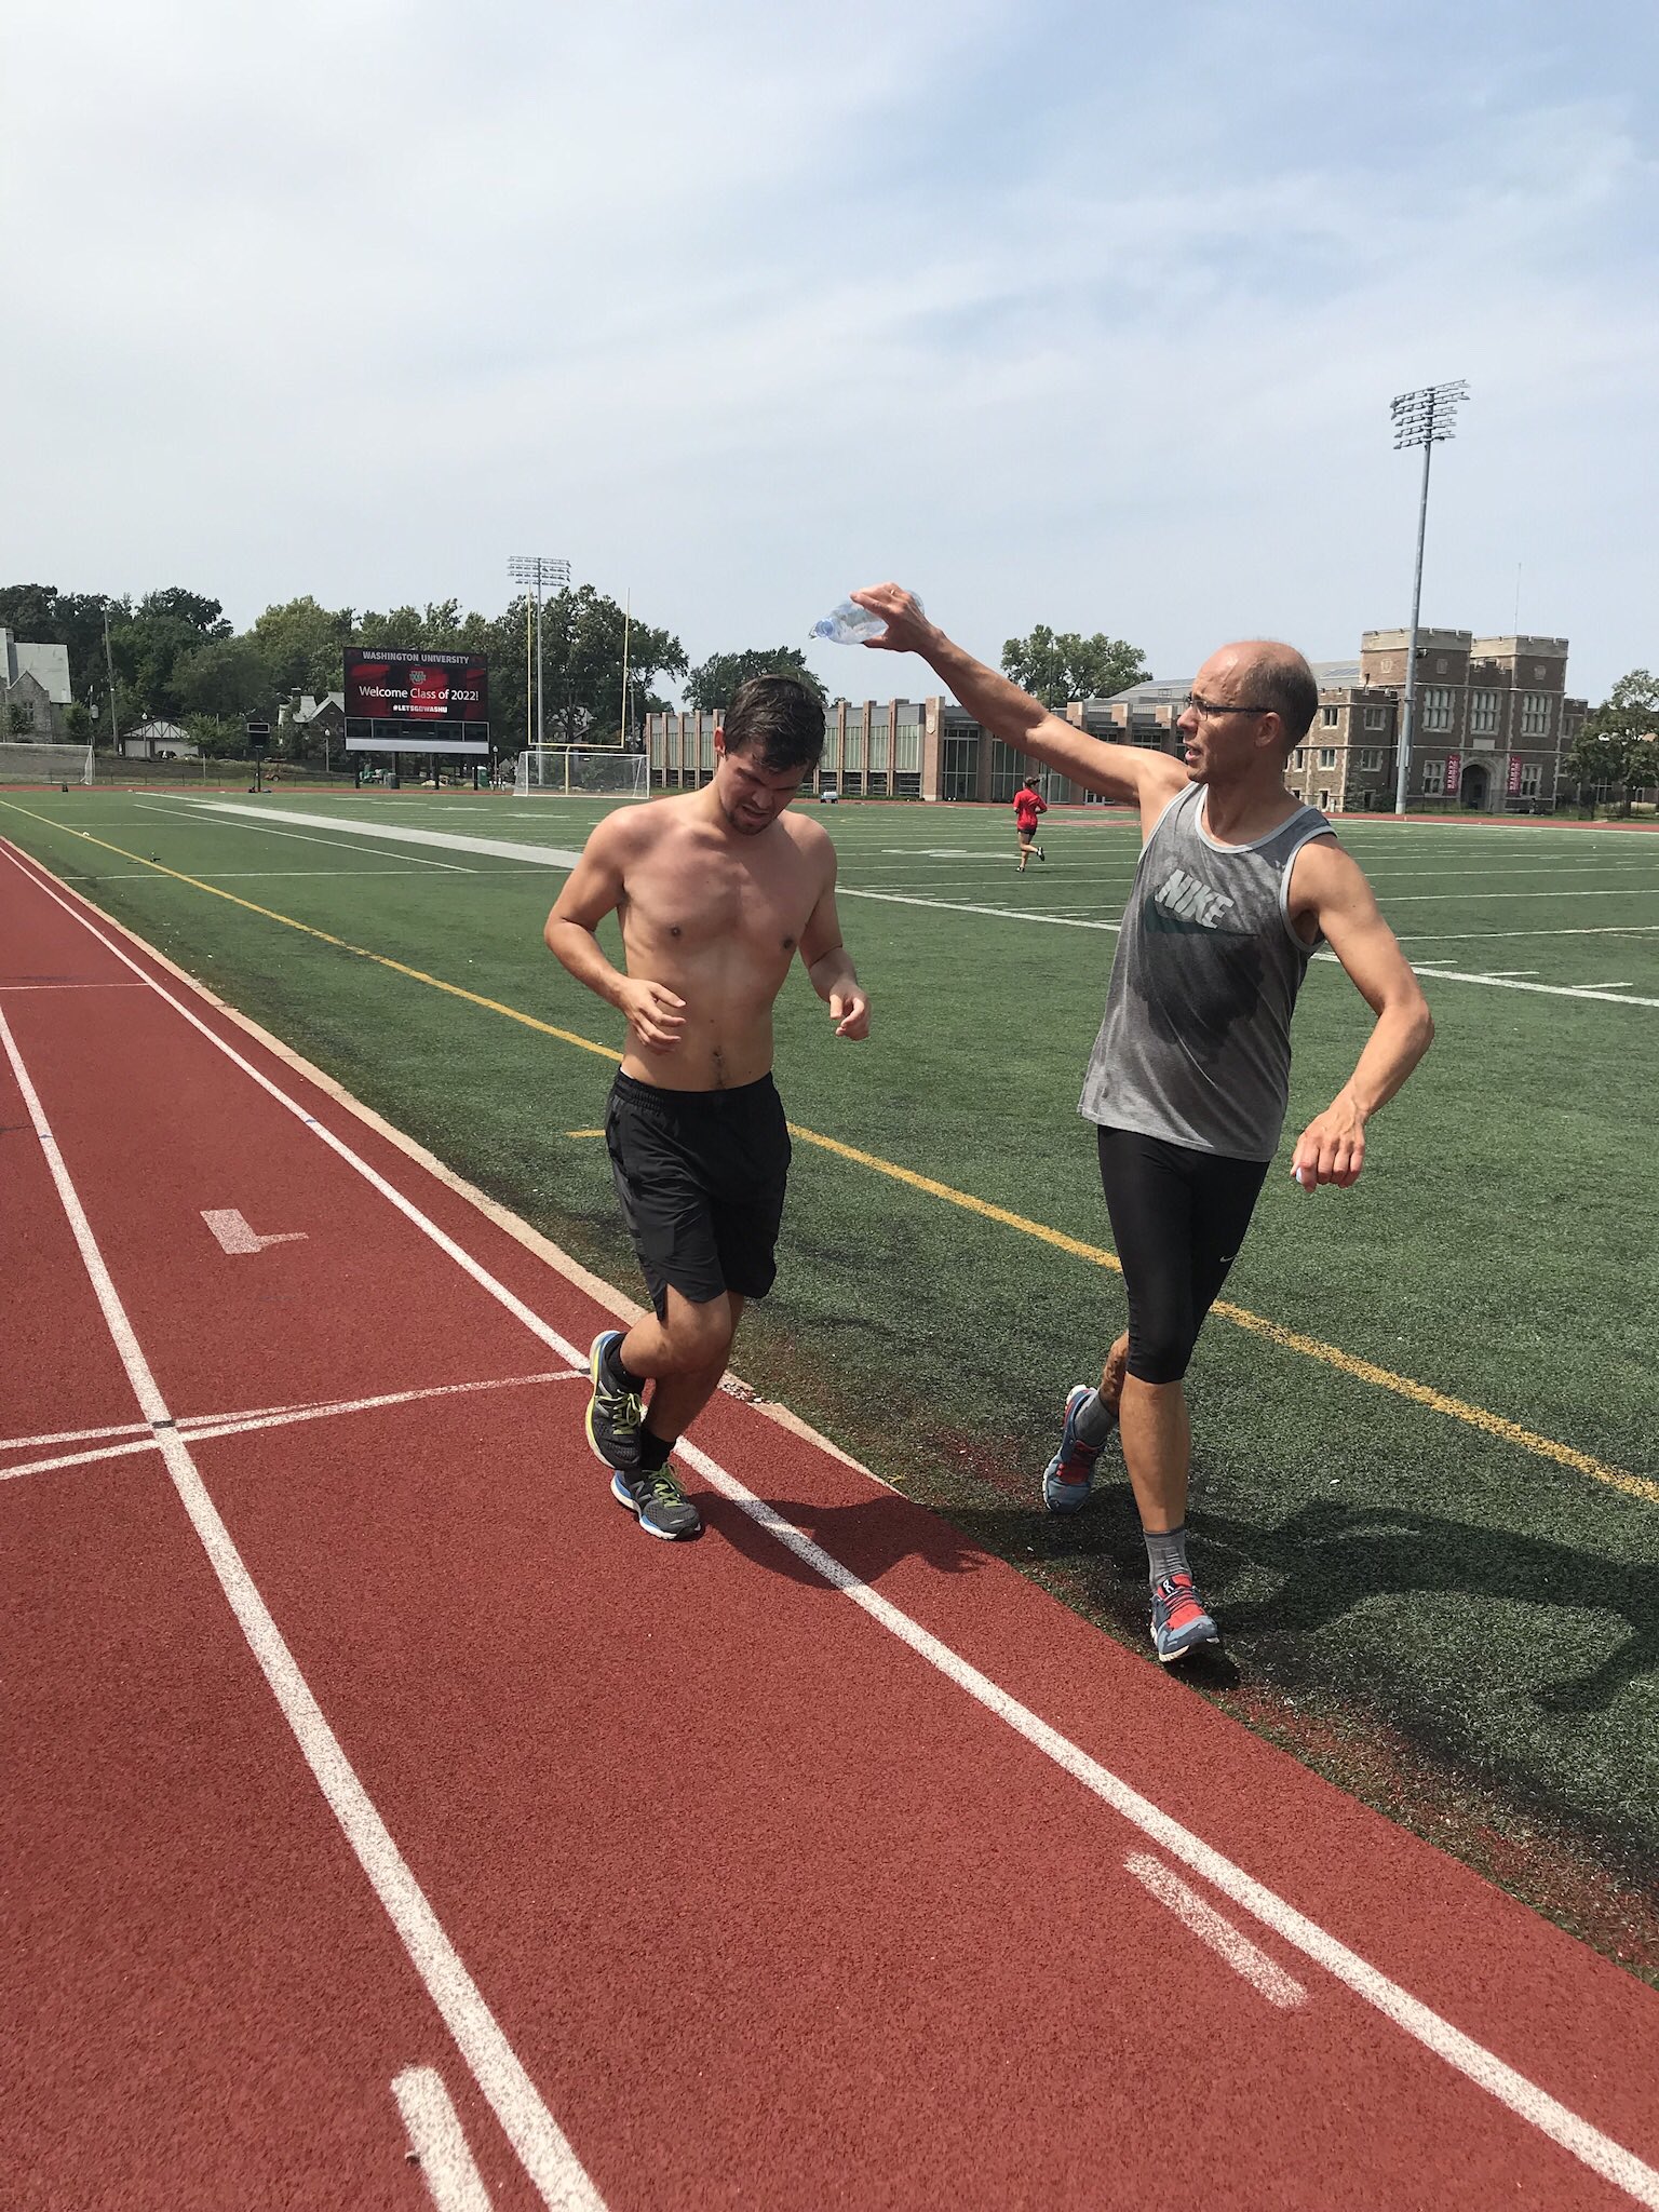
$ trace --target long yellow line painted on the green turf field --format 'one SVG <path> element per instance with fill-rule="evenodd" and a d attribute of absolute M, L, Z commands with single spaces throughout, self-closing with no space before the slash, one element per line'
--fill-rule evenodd
<path fill-rule="evenodd" d="M 29 821 L 38 821 L 49 830 L 62 830 L 62 823 L 51 821 L 46 814 L 33 814 L 29 807 L 15 805 L 15 801 L 0 803 L 18 814 L 27 814 Z M 126 852 L 122 845 L 108 845 L 104 838 L 95 838 L 86 830 L 75 834 L 86 838 L 88 845 L 102 845 L 104 852 L 119 854 L 122 860 L 137 860 L 142 867 L 153 867 L 157 876 L 170 876 L 175 883 L 188 883 L 197 891 L 210 891 L 215 898 L 226 898 L 232 907 L 246 907 L 248 914 L 259 914 L 270 922 L 281 922 L 285 929 L 299 929 L 303 936 L 316 938 L 321 945 L 334 945 L 358 960 L 372 960 L 376 967 L 389 969 L 394 975 L 407 975 L 411 982 L 425 982 L 434 991 L 447 991 L 449 998 L 462 998 L 469 1006 L 482 1006 L 487 1013 L 500 1013 L 509 1022 L 520 1022 L 524 1029 L 533 1029 L 544 1037 L 557 1037 L 560 1044 L 575 1044 L 584 1053 L 597 1053 L 602 1060 L 619 1057 L 613 1044 L 595 1044 L 593 1037 L 580 1037 L 573 1029 L 555 1029 L 551 1022 L 538 1022 L 533 1013 L 520 1013 L 518 1006 L 504 1006 L 495 998 L 482 998 L 478 991 L 467 991 L 456 982 L 445 982 L 440 975 L 427 975 L 425 969 L 411 969 L 405 967 L 403 960 L 389 960 L 385 953 L 367 951 L 363 945 L 349 945 L 345 938 L 330 936 L 327 929 L 314 929 L 310 922 L 296 922 L 292 914 L 276 914 L 274 907 L 259 907 L 250 898 L 223 891 L 217 883 L 201 883 L 199 876 L 184 876 L 179 869 L 164 867 L 159 860 L 148 860 L 142 854 Z M 571 1130 L 568 1135 L 577 1135 L 577 1130 Z M 586 1130 L 582 1135 L 586 1135 Z M 599 1133 L 595 1130 L 595 1135 Z M 947 1206 L 960 1206 L 964 1212 L 980 1214 L 984 1221 L 998 1221 L 1002 1228 L 1018 1230 L 1022 1237 L 1035 1237 L 1040 1243 L 1053 1245 L 1057 1252 L 1068 1252 L 1073 1259 L 1088 1261 L 1093 1267 L 1110 1267 L 1115 1274 L 1124 1272 L 1117 1254 L 1106 1252 L 1102 1245 L 1084 1243 L 1079 1237 L 1066 1237 L 1064 1230 L 1051 1230 L 1042 1221 L 1029 1221 L 1024 1214 L 1009 1212 L 1006 1206 L 993 1206 L 989 1199 L 975 1199 L 973 1192 L 956 1190 L 951 1183 L 940 1183 L 931 1175 L 916 1175 L 914 1168 L 900 1168 L 891 1159 L 880 1159 L 878 1152 L 860 1152 L 854 1144 L 841 1144 L 836 1137 L 821 1137 L 816 1130 L 801 1128 L 794 1121 L 790 1124 L 790 1135 L 801 1144 L 818 1146 L 821 1152 L 834 1152 L 838 1159 L 847 1159 L 858 1168 L 869 1168 L 874 1175 L 885 1175 L 911 1190 L 927 1192 L 931 1199 L 942 1199 Z M 1217 1301 L 1212 1312 L 1223 1321 L 1230 1321 L 1237 1329 L 1245 1329 L 1252 1336 L 1265 1336 L 1285 1352 L 1298 1352 L 1303 1358 L 1321 1360 L 1325 1367 L 1336 1367 L 1340 1374 L 1354 1376 L 1358 1383 L 1371 1383 L 1376 1389 L 1394 1391 L 1396 1398 L 1409 1398 L 1413 1405 L 1425 1405 L 1431 1413 L 1444 1413 L 1449 1420 L 1460 1420 L 1469 1429 L 1482 1429 L 1486 1436 L 1515 1444 L 1520 1451 L 1531 1451 L 1540 1460 L 1555 1460 L 1557 1467 L 1571 1467 L 1579 1475 L 1606 1482 L 1608 1489 L 1624 1491 L 1626 1498 L 1646 1498 L 1650 1504 L 1659 1504 L 1659 1482 L 1650 1482 L 1646 1475 L 1632 1475 L 1624 1467 L 1608 1467 L 1606 1460 L 1595 1460 L 1588 1451 L 1575 1451 L 1571 1444 L 1557 1444 L 1555 1438 L 1537 1436 L 1533 1429 L 1524 1429 L 1517 1420 L 1504 1420 L 1502 1413 L 1489 1413 L 1486 1407 L 1469 1405 L 1464 1398 L 1451 1398 L 1447 1391 L 1433 1389 L 1429 1383 L 1416 1383 L 1411 1376 L 1398 1376 L 1391 1367 L 1378 1367 L 1371 1360 L 1354 1358 L 1354 1354 L 1343 1352 L 1340 1345 L 1321 1343 L 1318 1336 L 1303 1336 L 1296 1329 L 1283 1327 L 1279 1321 L 1267 1321 L 1263 1314 L 1252 1314 L 1248 1307 L 1232 1305 L 1225 1298 Z"/>

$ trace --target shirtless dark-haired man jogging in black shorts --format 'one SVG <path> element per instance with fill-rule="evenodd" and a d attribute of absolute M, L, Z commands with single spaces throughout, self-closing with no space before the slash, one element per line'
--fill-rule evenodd
<path fill-rule="evenodd" d="M 776 1276 L 790 1133 L 772 1002 L 796 953 L 836 1035 L 869 1035 L 836 920 L 836 849 L 785 812 L 821 750 L 812 692 L 752 677 L 714 732 L 714 781 L 608 814 L 546 918 L 555 958 L 628 1018 L 604 1135 L 655 1318 L 595 1336 L 588 1442 L 617 1502 L 659 1537 L 701 1528 L 668 1455 L 719 1387 L 745 1298 Z M 622 920 L 626 973 L 595 938 L 606 914 Z"/>

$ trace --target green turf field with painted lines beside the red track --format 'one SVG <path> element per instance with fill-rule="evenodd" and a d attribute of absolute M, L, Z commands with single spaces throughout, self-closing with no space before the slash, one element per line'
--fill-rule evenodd
<path fill-rule="evenodd" d="M 0 792 L 0 834 L 637 1294 L 604 1148 L 573 1135 L 611 1075 L 573 1040 L 615 1053 L 619 1022 L 542 949 L 562 876 L 504 849 L 573 849 L 597 803 L 223 801 L 243 812 Z M 1139 1644 L 1126 1486 L 1079 1522 L 1033 1511 L 1060 1400 L 1124 1312 L 1075 1099 L 1135 830 L 1051 812 L 1048 860 L 1015 876 L 1004 810 L 821 818 L 874 1035 L 836 1044 L 803 975 L 779 1004 L 779 1084 L 810 1135 L 737 1367 Z M 1194 1555 L 1230 1655 L 1192 1679 L 1659 1980 L 1659 836 L 1343 838 L 1438 1042 L 1371 1126 L 1360 1186 L 1305 1197 L 1290 1146 L 1369 1020 L 1340 969 L 1310 969 L 1239 1314 L 1190 1378 Z"/>

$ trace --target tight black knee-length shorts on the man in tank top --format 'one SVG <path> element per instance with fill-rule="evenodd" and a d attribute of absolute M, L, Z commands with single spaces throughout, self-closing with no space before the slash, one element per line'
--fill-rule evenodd
<path fill-rule="evenodd" d="M 1267 1179 L 1265 1159 L 1102 1128 L 1099 1179 L 1128 1292 L 1128 1371 L 1179 1383 Z"/>

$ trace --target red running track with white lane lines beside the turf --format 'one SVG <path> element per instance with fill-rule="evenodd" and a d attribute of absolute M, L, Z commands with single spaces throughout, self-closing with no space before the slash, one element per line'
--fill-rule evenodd
<path fill-rule="evenodd" d="M 4 845 L 0 1046 L 9 2205 L 1659 2208 L 1652 1991 L 761 1407 L 641 1537 L 593 1285 Z"/>

